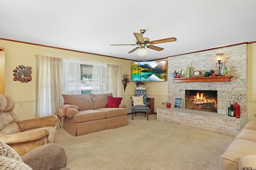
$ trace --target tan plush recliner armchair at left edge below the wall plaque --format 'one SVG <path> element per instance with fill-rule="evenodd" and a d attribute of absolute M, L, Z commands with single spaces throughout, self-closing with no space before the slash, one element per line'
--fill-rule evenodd
<path fill-rule="evenodd" d="M 55 143 L 57 116 L 50 115 L 18 121 L 15 103 L 7 94 L 0 94 L 0 141 L 20 156 L 46 143 Z"/>

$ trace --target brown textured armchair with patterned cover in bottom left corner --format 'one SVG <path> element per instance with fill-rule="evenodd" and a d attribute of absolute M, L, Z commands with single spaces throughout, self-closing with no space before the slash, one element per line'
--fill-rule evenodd
<path fill-rule="evenodd" d="M 0 141 L 0 169 L 2 170 L 70 170 L 66 168 L 67 154 L 56 143 L 42 145 L 20 156 Z"/>

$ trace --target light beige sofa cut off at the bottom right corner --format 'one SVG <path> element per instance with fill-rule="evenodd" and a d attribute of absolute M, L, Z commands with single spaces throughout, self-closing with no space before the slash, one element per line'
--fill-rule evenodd
<path fill-rule="evenodd" d="M 244 125 L 220 156 L 221 170 L 256 169 L 256 121 Z"/>

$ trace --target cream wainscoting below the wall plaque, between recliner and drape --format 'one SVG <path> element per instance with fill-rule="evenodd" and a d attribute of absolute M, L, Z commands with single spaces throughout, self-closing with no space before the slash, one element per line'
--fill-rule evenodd
<path fill-rule="evenodd" d="M 33 119 L 36 117 L 36 101 L 14 101 L 14 113 L 19 120 Z"/>

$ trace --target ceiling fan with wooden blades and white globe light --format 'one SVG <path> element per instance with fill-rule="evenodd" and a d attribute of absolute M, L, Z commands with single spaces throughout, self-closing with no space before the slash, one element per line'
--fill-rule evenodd
<path fill-rule="evenodd" d="M 155 41 L 150 41 L 149 38 L 143 37 L 143 34 L 146 32 L 146 30 L 141 29 L 140 33 L 133 33 L 134 36 L 136 37 L 136 44 L 111 44 L 111 45 L 139 45 L 139 47 L 136 47 L 132 51 L 128 53 L 132 53 L 136 51 L 137 49 L 140 48 L 140 51 L 138 51 L 138 55 L 141 57 L 144 57 L 148 54 L 148 51 L 145 49 L 145 47 L 156 50 L 156 51 L 162 51 L 163 48 L 157 47 L 153 44 L 158 44 L 158 43 L 167 43 L 171 41 L 176 41 L 177 39 L 175 37 L 172 38 L 166 38 L 166 39 L 159 39 Z"/>

